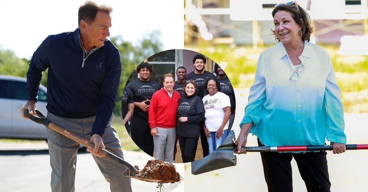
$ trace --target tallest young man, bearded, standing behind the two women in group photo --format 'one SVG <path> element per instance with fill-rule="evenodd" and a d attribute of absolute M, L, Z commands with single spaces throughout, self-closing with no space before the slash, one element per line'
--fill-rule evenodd
<path fill-rule="evenodd" d="M 201 99 L 203 99 L 206 90 L 206 80 L 210 77 L 216 78 L 215 75 L 205 70 L 206 61 L 207 59 L 204 55 L 195 55 L 193 58 L 194 71 L 189 73 L 185 78 L 186 80 L 193 80 L 195 82 L 197 85 L 197 95 Z M 208 155 L 208 142 L 203 129 L 201 130 L 201 145 L 203 156 L 205 157 Z"/>

